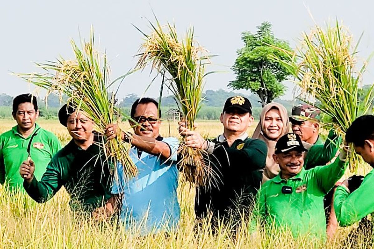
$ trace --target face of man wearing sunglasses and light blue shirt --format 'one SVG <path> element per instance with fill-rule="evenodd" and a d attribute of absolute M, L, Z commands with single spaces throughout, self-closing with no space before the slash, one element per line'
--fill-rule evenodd
<path fill-rule="evenodd" d="M 154 103 L 139 104 L 132 117 L 139 125 L 130 121 L 134 126 L 134 133 L 139 136 L 156 138 L 159 136 L 161 121 L 158 115 L 157 106 Z"/>

